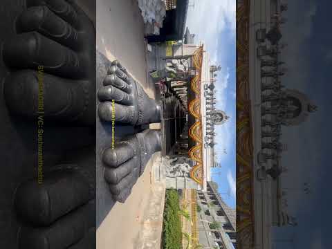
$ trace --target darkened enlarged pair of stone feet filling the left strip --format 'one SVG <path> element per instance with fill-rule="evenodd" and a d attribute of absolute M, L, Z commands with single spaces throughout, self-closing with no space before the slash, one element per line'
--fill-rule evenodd
<path fill-rule="evenodd" d="M 24 2 L 0 10 L 1 248 L 92 249 L 95 28 L 75 1 Z M 42 183 L 37 116 L 45 124 Z"/>

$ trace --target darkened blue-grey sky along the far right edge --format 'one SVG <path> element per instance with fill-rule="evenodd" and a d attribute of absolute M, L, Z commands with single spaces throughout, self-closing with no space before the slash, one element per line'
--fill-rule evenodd
<path fill-rule="evenodd" d="M 293 239 L 275 243 L 275 249 L 332 248 L 331 239 L 331 122 L 332 34 L 329 32 L 332 2 L 329 0 L 288 1 L 288 22 L 283 42 L 288 48 L 282 58 L 288 67 L 283 82 L 290 89 L 308 95 L 318 111 L 298 127 L 283 129 L 288 144 L 282 163 L 288 172 L 282 178 L 288 193 L 288 212 L 297 216 L 297 227 L 275 228 L 274 239 Z M 311 194 L 302 191 L 304 182 Z"/>

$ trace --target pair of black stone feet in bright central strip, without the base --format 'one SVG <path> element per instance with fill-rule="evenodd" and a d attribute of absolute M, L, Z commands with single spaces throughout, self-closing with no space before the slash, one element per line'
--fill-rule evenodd
<path fill-rule="evenodd" d="M 160 105 L 147 96 L 120 62 L 109 62 L 106 57 L 98 55 L 97 77 L 102 81 L 97 108 L 101 122 L 110 125 L 114 121 L 120 126 L 160 122 Z M 160 131 L 145 129 L 101 149 L 104 179 L 113 199 L 124 203 L 151 155 L 161 150 Z"/>

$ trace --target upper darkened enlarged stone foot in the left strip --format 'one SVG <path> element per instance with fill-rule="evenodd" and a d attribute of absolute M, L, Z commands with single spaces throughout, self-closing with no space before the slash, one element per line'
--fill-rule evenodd
<path fill-rule="evenodd" d="M 3 44 L 12 114 L 95 122 L 95 28 L 73 0 L 26 0 L 17 35 Z M 44 102 L 44 108 L 41 104 Z"/>

